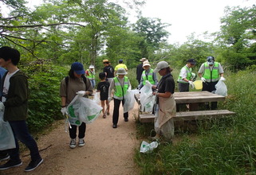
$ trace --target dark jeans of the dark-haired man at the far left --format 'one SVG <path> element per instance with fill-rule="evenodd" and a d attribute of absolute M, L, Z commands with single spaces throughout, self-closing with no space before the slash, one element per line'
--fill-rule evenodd
<path fill-rule="evenodd" d="M 29 148 L 32 161 L 41 158 L 38 151 L 37 142 L 30 135 L 28 127 L 26 125 L 26 121 L 9 121 L 9 123 L 11 128 L 13 129 L 16 144 L 16 148 L 7 150 L 8 154 L 10 155 L 10 159 L 14 161 L 20 160 L 18 140 L 20 140 L 26 145 L 26 147 Z"/>

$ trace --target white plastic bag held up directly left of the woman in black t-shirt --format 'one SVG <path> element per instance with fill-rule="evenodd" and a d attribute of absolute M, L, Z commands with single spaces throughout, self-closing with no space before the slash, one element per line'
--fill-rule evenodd
<path fill-rule="evenodd" d="M 146 80 L 146 84 L 140 89 L 141 111 L 152 112 L 156 95 L 152 94 L 152 84 Z"/>

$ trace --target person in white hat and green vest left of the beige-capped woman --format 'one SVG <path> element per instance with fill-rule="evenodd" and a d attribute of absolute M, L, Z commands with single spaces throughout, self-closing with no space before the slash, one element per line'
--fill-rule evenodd
<path fill-rule="evenodd" d="M 138 88 L 141 89 L 142 87 L 144 87 L 144 85 L 146 84 L 146 80 L 148 80 L 149 83 L 152 85 L 157 85 L 158 80 L 157 80 L 156 73 L 153 72 L 153 69 L 151 68 L 151 65 L 149 64 L 148 60 L 145 60 L 143 62 L 143 68 L 144 68 L 144 71 L 141 74 L 140 84 Z"/>

